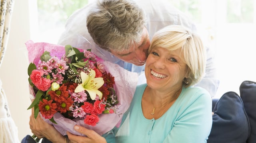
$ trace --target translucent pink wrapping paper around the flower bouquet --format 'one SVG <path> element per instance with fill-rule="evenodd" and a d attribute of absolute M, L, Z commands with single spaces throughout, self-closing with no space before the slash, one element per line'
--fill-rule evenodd
<path fill-rule="evenodd" d="M 52 57 L 56 56 L 59 59 L 65 54 L 65 47 L 61 45 L 55 45 L 50 43 L 34 43 L 33 41 L 27 41 L 26 47 L 28 50 L 28 60 L 30 63 L 34 63 L 36 66 L 38 63 L 40 63 L 40 56 L 45 52 L 50 52 L 50 55 Z M 79 47 L 76 47 L 79 48 Z M 82 49 L 78 49 L 80 52 L 84 51 Z M 122 67 L 120 67 L 117 64 L 110 63 L 108 61 L 104 61 L 97 57 L 97 60 L 100 61 L 104 67 L 105 70 L 114 76 L 114 89 L 116 92 L 116 96 L 118 99 L 118 104 L 116 105 L 118 107 L 118 113 L 110 113 L 112 114 L 100 114 L 99 121 L 95 118 L 95 116 L 91 116 L 90 118 L 87 118 L 88 123 L 90 122 L 92 125 L 88 125 L 84 123 L 84 119 L 81 118 L 74 118 L 69 119 L 65 118 L 60 112 L 57 112 L 54 114 L 53 119 L 56 121 L 56 123 L 53 123 L 49 119 L 43 118 L 46 122 L 49 124 L 54 125 L 54 127 L 62 134 L 66 135 L 66 131 L 69 131 L 76 135 L 82 135 L 76 131 L 74 131 L 74 125 L 81 125 L 83 127 L 86 127 L 88 129 L 92 129 L 96 131 L 98 134 L 102 135 L 104 133 L 107 133 L 111 129 L 113 129 L 114 126 L 118 125 L 119 121 L 122 119 L 122 115 L 130 106 L 130 102 L 132 100 L 133 94 L 136 89 L 136 85 L 138 82 L 138 74 L 135 72 L 130 72 Z M 100 72 L 96 71 L 96 74 L 99 74 Z M 42 73 L 36 72 L 35 78 L 33 80 L 38 81 L 38 76 Z M 131 80 L 132 79 L 132 80 Z M 44 82 L 43 82 L 44 83 Z M 41 83 L 42 84 L 42 83 Z M 46 83 L 44 83 L 46 85 Z M 43 88 L 43 87 L 42 87 Z M 35 96 L 34 90 L 30 86 L 30 94 Z M 97 111 L 94 111 L 97 113 L 102 112 L 102 110 L 99 108 Z M 96 123 L 97 122 L 97 123 Z"/>

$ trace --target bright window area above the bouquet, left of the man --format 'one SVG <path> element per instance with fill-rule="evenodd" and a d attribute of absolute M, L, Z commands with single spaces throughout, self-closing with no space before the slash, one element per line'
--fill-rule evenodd
<path fill-rule="evenodd" d="M 57 43 L 68 17 L 88 0 L 37 0 L 38 40 Z"/>

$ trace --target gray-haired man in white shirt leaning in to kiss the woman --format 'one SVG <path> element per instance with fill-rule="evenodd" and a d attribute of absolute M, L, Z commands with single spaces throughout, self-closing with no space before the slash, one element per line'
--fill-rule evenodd
<path fill-rule="evenodd" d="M 88 4 L 70 16 L 58 44 L 92 49 L 98 57 L 140 75 L 146 82 L 144 64 L 154 33 L 167 25 L 184 25 L 196 30 L 192 22 L 170 2 L 161 0 L 103 0 Z M 87 27 L 87 28 L 86 28 Z M 206 75 L 197 86 L 216 94 L 214 55 L 207 47 Z"/>

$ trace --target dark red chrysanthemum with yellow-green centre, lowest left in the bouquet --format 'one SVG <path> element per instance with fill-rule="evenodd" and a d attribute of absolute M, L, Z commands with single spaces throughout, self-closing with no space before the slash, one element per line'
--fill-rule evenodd
<path fill-rule="evenodd" d="M 56 111 L 56 103 L 52 103 L 52 100 L 46 100 L 43 99 L 38 104 L 39 110 L 42 114 L 42 116 L 46 119 L 50 119 L 53 117 L 53 115 L 57 112 Z"/>

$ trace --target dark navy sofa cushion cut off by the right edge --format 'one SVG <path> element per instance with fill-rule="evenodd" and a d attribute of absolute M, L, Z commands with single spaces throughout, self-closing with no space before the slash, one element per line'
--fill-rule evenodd
<path fill-rule="evenodd" d="M 246 80 L 239 90 L 251 127 L 247 143 L 256 143 L 256 82 Z"/>

